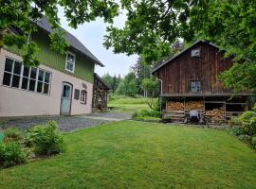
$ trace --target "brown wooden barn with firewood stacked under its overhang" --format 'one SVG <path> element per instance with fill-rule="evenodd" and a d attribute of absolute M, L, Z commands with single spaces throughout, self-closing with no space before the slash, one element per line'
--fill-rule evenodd
<path fill-rule="evenodd" d="M 162 61 L 152 73 L 162 83 L 164 118 L 187 122 L 190 112 L 196 111 L 202 123 L 224 123 L 245 112 L 251 94 L 233 96 L 217 78 L 231 65 L 218 46 L 203 40 Z"/>

